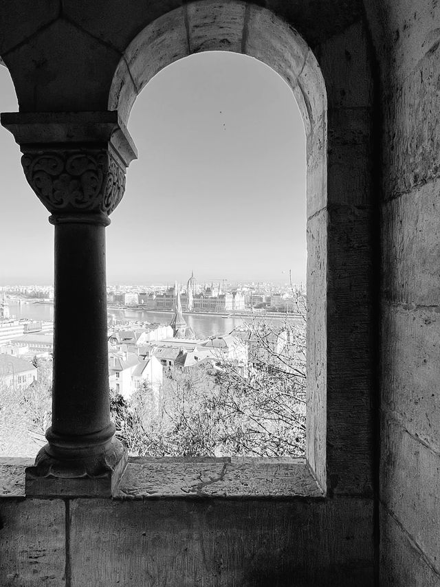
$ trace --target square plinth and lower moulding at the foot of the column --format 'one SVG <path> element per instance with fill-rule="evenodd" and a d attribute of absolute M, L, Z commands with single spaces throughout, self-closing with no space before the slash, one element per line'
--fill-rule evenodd
<path fill-rule="evenodd" d="M 111 497 L 115 494 L 126 464 L 126 447 L 115 437 L 105 452 L 90 458 L 63 460 L 43 446 L 34 467 L 25 469 L 25 495 L 28 497 Z"/>

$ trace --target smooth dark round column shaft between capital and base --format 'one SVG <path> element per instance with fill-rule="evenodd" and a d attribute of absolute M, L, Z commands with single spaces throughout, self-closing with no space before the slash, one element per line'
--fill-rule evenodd
<path fill-rule="evenodd" d="M 110 425 L 105 227 L 66 220 L 54 221 L 52 432 L 82 436 Z"/>

